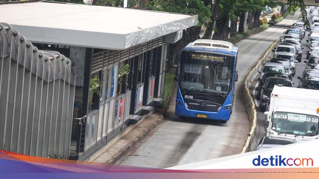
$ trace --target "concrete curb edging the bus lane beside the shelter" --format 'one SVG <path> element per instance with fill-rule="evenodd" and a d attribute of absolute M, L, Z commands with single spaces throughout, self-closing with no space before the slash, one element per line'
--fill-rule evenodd
<path fill-rule="evenodd" d="M 118 153 L 116 153 L 116 155 L 114 155 L 111 159 L 109 159 L 108 161 L 106 161 L 106 165 L 108 164 L 115 164 L 117 163 L 119 160 L 121 160 L 123 157 L 125 157 L 127 155 L 127 153 L 129 153 L 139 142 L 143 141 L 146 137 L 149 136 L 149 134 L 151 132 L 153 132 L 153 130 L 155 128 L 157 128 L 161 123 L 163 122 L 163 115 L 160 115 L 159 118 L 152 123 L 151 126 L 149 126 L 147 129 L 143 130 L 138 136 L 136 136 L 134 138 L 134 140 L 132 140 L 126 148 L 121 149 Z"/>

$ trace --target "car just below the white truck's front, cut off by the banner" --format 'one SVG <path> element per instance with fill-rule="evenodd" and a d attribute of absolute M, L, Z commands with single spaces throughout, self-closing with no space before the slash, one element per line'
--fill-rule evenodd
<path fill-rule="evenodd" d="M 263 150 L 263 149 L 268 149 L 268 148 L 272 148 L 272 147 L 279 147 L 279 146 L 294 144 L 294 143 L 296 143 L 296 140 L 294 140 L 294 139 L 288 139 L 288 138 L 283 138 L 283 137 L 265 136 L 259 140 L 256 150 L 259 151 L 259 150 Z"/>

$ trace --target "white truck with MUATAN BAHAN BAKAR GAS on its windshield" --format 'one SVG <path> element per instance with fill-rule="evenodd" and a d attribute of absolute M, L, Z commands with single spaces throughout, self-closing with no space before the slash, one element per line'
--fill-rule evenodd
<path fill-rule="evenodd" d="M 266 136 L 318 139 L 319 90 L 274 86 L 266 115 Z"/>

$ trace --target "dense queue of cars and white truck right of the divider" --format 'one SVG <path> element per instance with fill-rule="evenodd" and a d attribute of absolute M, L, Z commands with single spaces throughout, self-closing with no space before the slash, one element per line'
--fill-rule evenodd
<path fill-rule="evenodd" d="M 319 128 L 319 9 L 307 9 L 310 27 L 302 21 L 288 28 L 257 79 L 260 110 L 265 113 L 266 136 L 256 150 L 318 139 Z M 307 28 L 309 33 L 306 35 Z M 301 40 L 307 38 L 306 67 L 292 88 L 296 63 L 302 61 Z M 318 91 L 316 91 L 318 90 Z"/>

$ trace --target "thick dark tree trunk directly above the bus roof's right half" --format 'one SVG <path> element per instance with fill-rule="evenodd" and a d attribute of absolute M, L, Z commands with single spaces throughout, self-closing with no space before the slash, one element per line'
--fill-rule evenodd
<path fill-rule="evenodd" d="M 228 26 L 228 24 L 229 24 L 229 15 L 228 15 L 228 12 L 225 12 L 216 20 L 216 29 L 213 34 L 214 40 L 228 39 L 228 34 L 230 32 L 230 27 Z"/>

